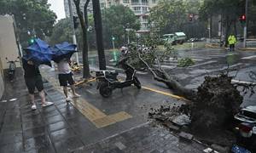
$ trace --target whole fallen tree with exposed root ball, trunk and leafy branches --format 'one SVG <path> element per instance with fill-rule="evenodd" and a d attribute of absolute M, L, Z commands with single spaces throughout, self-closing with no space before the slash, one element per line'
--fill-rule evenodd
<path fill-rule="evenodd" d="M 237 88 L 253 91 L 255 83 L 232 82 L 228 73 L 217 77 L 205 77 L 205 81 L 196 90 L 184 88 L 175 77 L 161 68 L 160 61 L 169 58 L 164 54 L 156 54 L 156 48 L 130 45 L 129 54 L 131 65 L 141 62 L 154 77 L 154 80 L 163 82 L 172 93 L 189 99 L 190 128 L 194 133 L 209 134 L 224 131 L 232 126 L 234 115 L 240 108 L 242 96 Z M 150 58 L 148 59 L 148 55 Z M 146 57 L 146 58 L 145 58 Z M 173 70 L 172 70 L 173 71 Z"/>

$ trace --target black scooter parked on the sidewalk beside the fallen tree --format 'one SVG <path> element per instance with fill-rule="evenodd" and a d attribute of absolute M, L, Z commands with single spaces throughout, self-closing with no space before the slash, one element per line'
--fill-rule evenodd
<path fill-rule="evenodd" d="M 97 89 L 99 89 L 102 97 L 108 98 L 114 89 L 130 87 L 132 84 L 138 89 L 142 88 L 141 82 L 137 79 L 135 68 L 126 63 L 127 59 L 128 57 L 117 63 L 125 70 L 126 79 L 124 82 L 119 82 L 117 79 L 119 73 L 116 71 L 96 71 Z"/>

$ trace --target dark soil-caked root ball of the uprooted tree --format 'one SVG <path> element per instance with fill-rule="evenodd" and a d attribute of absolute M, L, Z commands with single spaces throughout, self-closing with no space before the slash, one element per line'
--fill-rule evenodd
<path fill-rule="evenodd" d="M 205 77 L 191 107 L 192 131 L 207 134 L 230 127 L 241 103 L 241 94 L 231 84 L 231 77 Z"/>

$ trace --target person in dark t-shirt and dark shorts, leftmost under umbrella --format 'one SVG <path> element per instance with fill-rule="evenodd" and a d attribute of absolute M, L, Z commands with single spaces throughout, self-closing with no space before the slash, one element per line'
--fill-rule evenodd
<path fill-rule="evenodd" d="M 22 66 L 24 69 L 24 78 L 26 82 L 26 87 L 28 89 L 29 97 L 32 102 L 32 110 L 37 110 L 37 105 L 35 104 L 35 88 L 38 89 L 39 96 L 41 98 L 42 107 L 53 105 L 52 102 L 45 100 L 44 85 L 42 76 L 40 74 L 37 65 L 34 65 L 31 60 L 26 60 L 22 58 Z"/>

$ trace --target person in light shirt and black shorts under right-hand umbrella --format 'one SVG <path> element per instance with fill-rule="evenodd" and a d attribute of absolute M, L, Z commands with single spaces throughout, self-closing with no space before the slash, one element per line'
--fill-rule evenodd
<path fill-rule="evenodd" d="M 76 93 L 74 81 L 73 81 L 73 73 L 70 69 L 70 59 L 61 59 L 58 65 L 58 72 L 59 72 L 59 82 L 60 85 L 63 87 L 63 92 L 66 96 L 66 101 L 70 102 L 71 98 L 68 96 L 68 90 L 67 90 L 67 83 L 70 85 L 70 88 L 72 90 L 72 98 L 79 98 L 80 95 Z"/>

